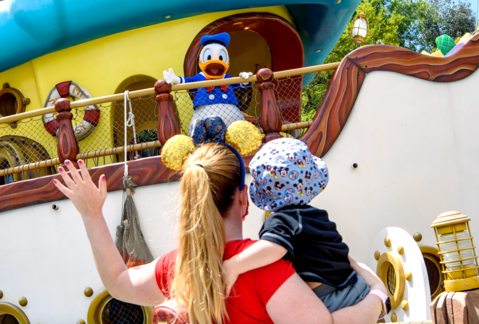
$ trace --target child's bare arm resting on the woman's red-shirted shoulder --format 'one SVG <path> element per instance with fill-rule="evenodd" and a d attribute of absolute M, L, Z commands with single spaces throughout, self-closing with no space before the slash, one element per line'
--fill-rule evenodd
<path fill-rule="evenodd" d="M 226 296 L 230 295 L 231 288 L 240 274 L 276 262 L 287 252 L 279 244 L 259 240 L 240 254 L 223 262 L 223 283 Z"/>

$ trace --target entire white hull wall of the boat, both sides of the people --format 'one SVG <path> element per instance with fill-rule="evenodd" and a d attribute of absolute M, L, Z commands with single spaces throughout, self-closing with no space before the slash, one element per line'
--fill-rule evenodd
<path fill-rule="evenodd" d="M 433 220 L 458 210 L 479 233 L 479 73 L 433 83 L 390 73 L 366 77 L 338 140 L 324 157 L 331 180 L 312 201 L 336 222 L 351 255 L 369 263 L 376 235 L 396 226 L 421 244 L 435 243 Z M 359 164 L 357 169 L 351 163 Z M 251 176 L 247 174 L 246 183 Z M 178 182 L 137 188 L 134 200 L 147 243 L 156 258 L 174 248 Z M 103 289 L 79 214 L 69 200 L 0 213 L 0 302 L 18 305 L 32 324 L 86 320 Z M 104 214 L 111 235 L 120 221 L 122 192 L 108 194 Z M 263 211 L 250 204 L 244 237 L 257 239 Z"/>

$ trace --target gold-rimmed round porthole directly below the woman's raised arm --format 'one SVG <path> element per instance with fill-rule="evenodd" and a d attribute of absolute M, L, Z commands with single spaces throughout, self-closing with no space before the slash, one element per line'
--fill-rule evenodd
<path fill-rule="evenodd" d="M 152 311 L 151 307 L 114 299 L 103 290 L 90 304 L 87 324 L 150 324 Z"/>

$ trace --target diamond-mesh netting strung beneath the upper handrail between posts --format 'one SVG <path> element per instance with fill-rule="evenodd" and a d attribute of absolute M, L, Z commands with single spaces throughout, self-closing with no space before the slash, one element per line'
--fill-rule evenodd
<path fill-rule="evenodd" d="M 307 75 L 298 75 L 274 80 L 277 106 L 283 124 L 292 124 L 310 121 L 320 106 L 331 75 L 334 71 L 323 71 Z M 239 105 L 223 104 L 224 97 L 214 105 L 193 108 L 195 96 L 201 91 L 176 91 L 173 92 L 173 111 L 175 119 L 182 134 L 189 135 L 192 118 L 205 118 L 217 115 L 230 125 L 236 120 L 246 120 L 259 128 L 261 93 L 258 83 L 249 87 L 236 87 L 234 94 Z M 203 88 L 204 89 L 204 88 Z M 217 92 L 218 93 L 218 92 Z M 222 92 L 220 91 L 220 94 Z M 207 97 L 210 92 L 205 93 Z M 225 93 L 226 95 L 226 93 Z M 74 98 L 72 98 L 75 100 Z M 132 112 L 135 121 L 136 142 L 138 144 L 157 140 L 158 103 L 155 95 L 147 95 L 131 99 Z M 102 156 L 107 150 L 123 147 L 124 140 L 124 101 L 108 102 L 96 105 L 99 111 L 97 123 L 90 124 L 91 128 L 85 130 L 84 121 L 91 114 L 91 109 L 74 108 L 72 125 L 74 132 L 79 134 L 78 146 L 82 159 L 87 167 L 124 162 L 121 152 L 113 155 Z M 129 107 L 127 107 L 129 110 Z M 0 185 L 21 180 L 37 178 L 40 176 L 57 173 L 58 161 L 47 162 L 58 158 L 57 134 L 53 124 L 48 124 L 51 119 L 42 116 L 33 117 L 16 122 L 16 124 L 2 124 L 0 126 L 0 170 L 20 166 L 20 172 L 0 176 Z M 13 127 L 14 128 L 13 128 Z M 53 127 L 53 128 L 52 128 Z M 306 130 L 290 130 L 283 135 L 300 138 Z M 85 134 L 87 134 L 85 136 Z M 133 152 L 135 144 L 133 128 L 127 128 L 127 147 L 131 150 L 127 160 L 135 157 L 148 158 L 158 156 L 159 148 L 141 148 Z M 86 153 L 96 152 L 94 158 L 86 159 Z M 47 162 L 40 165 L 40 162 Z M 53 164 L 53 165 L 51 165 Z M 33 167 L 35 166 L 36 167 Z M 31 168 L 28 170 L 28 167 Z"/>

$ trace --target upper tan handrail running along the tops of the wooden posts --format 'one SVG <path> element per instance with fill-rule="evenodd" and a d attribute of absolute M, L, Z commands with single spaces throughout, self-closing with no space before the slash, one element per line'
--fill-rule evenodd
<path fill-rule="evenodd" d="M 273 77 L 275 79 L 284 78 L 288 76 L 295 76 L 295 75 L 302 75 L 307 73 L 315 73 L 320 71 L 327 71 L 327 70 L 334 70 L 339 66 L 339 62 L 336 63 L 329 63 L 329 64 L 321 64 L 315 66 L 308 66 L 308 67 L 301 67 L 298 69 L 292 70 L 285 70 L 285 71 L 278 71 L 273 73 Z M 204 88 L 204 87 L 212 87 L 212 86 L 219 86 L 219 85 L 226 85 L 226 84 L 234 84 L 240 82 L 256 82 L 256 75 L 250 76 L 247 80 L 241 77 L 229 78 L 229 79 L 218 79 L 218 80 L 209 80 L 209 81 L 200 81 L 200 82 L 191 82 L 191 83 L 183 83 L 183 84 L 174 84 L 171 86 L 171 91 L 180 91 L 180 90 L 188 90 L 188 89 L 196 89 L 196 88 Z M 137 98 L 141 96 L 147 95 L 154 95 L 155 88 L 148 88 L 142 89 L 137 91 L 131 91 L 128 93 L 130 98 Z M 123 100 L 124 94 L 119 93 L 115 95 L 103 96 L 98 98 L 91 98 L 85 100 L 78 100 L 74 101 L 70 104 L 70 107 L 73 108 L 80 108 L 90 105 L 99 105 L 106 102 L 118 101 Z M 11 122 L 17 122 L 22 119 L 42 116 L 49 113 L 54 113 L 55 107 L 50 106 L 46 108 L 36 109 L 32 111 L 28 111 L 26 113 L 11 115 L 7 117 L 0 118 L 0 124 L 7 124 Z"/>

